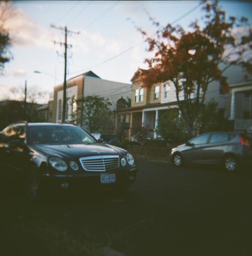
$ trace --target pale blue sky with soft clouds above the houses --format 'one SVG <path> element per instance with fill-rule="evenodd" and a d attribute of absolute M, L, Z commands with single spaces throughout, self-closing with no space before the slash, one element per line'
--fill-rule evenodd
<path fill-rule="evenodd" d="M 53 91 L 64 80 L 64 42 L 62 30 L 67 26 L 76 33 L 68 34 L 67 79 L 92 70 L 106 80 L 130 84 L 137 68 L 150 53 L 146 51 L 140 27 L 153 34 L 155 28 L 148 14 L 160 24 L 175 24 L 187 28 L 202 16 L 199 1 L 15 1 L 17 15 L 8 20 L 13 45 L 13 59 L 0 76 L 0 100 L 13 97 L 10 87 Z M 226 14 L 248 17 L 249 1 L 220 1 Z M 190 11 L 191 10 L 191 11 Z M 251 24 L 251 22 L 250 22 Z M 130 49 L 127 51 L 127 49 Z M 124 52 L 124 53 L 123 53 Z M 121 54 L 122 53 L 122 54 Z M 117 56 L 119 55 L 119 56 Z M 115 57 L 117 56 L 117 57 Z M 112 60 L 110 60 L 112 59 Z M 104 62 L 104 63 L 103 63 Z M 34 73 L 39 71 L 41 74 Z M 41 102 L 46 99 L 41 99 Z"/>

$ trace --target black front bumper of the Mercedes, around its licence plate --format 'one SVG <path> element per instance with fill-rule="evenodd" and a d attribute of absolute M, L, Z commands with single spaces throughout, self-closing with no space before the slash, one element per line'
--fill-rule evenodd
<path fill-rule="evenodd" d="M 135 183 L 136 174 L 138 168 L 134 167 L 127 170 L 111 170 L 105 172 L 97 171 L 82 171 L 78 173 L 42 173 L 41 175 L 41 185 L 46 188 L 55 189 L 81 189 L 90 187 L 121 187 L 124 185 L 130 185 Z M 115 182 L 114 183 L 101 183 L 101 174 L 103 173 L 114 173 Z"/>

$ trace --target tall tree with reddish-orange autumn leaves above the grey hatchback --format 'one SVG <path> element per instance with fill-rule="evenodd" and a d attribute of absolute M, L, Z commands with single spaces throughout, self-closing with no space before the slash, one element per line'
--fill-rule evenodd
<path fill-rule="evenodd" d="M 222 90 L 229 84 L 223 75 L 232 65 L 240 65 L 251 75 L 252 31 L 248 19 L 226 18 L 218 1 L 202 1 L 201 26 L 196 20 L 190 30 L 167 24 L 157 27 L 154 37 L 139 29 L 149 43 L 154 57 L 146 59 L 149 71 L 142 75 L 142 86 L 170 81 L 176 89 L 176 99 L 189 136 L 193 136 L 194 123 L 203 111 L 208 85 L 220 82 Z M 250 54 L 248 54 L 250 53 Z M 246 57 L 250 56 L 249 57 Z"/>

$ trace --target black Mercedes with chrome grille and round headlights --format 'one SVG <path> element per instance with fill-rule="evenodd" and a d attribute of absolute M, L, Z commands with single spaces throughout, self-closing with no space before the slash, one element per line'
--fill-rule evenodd
<path fill-rule="evenodd" d="M 9 125 L 0 133 L 1 169 L 19 172 L 35 200 L 44 189 L 108 187 L 123 191 L 138 168 L 126 150 L 97 141 L 75 124 Z"/>

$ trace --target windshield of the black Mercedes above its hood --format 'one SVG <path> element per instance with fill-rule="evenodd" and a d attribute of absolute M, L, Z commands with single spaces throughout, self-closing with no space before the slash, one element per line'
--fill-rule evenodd
<path fill-rule="evenodd" d="M 78 126 L 30 126 L 31 144 L 96 143 L 96 141 Z"/>

